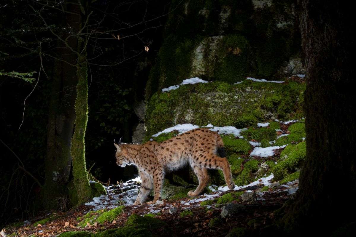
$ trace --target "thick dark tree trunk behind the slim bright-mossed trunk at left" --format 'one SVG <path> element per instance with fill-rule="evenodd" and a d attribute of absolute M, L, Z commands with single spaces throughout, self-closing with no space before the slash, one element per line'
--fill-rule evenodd
<path fill-rule="evenodd" d="M 76 4 L 64 6 L 67 14 L 61 15 L 59 25 L 72 26 L 74 22 L 80 22 L 78 15 L 70 13 L 77 11 Z M 63 38 L 68 37 L 68 34 L 64 34 Z M 77 60 L 77 55 L 73 54 L 73 49 L 77 49 L 77 46 L 76 37 L 68 37 L 65 42 L 57 39 L 47 126 L 46 181 L 35 205 L 39 209 L 52 209 L 57 201 L 59 205 L 64 205 L 60 200 L 65 200 L 67 193 L 66 185 L 72 163 L 70 146 L 75 120 L 75 86 L 78 82 L 77 67 L 72 62 Z"/>

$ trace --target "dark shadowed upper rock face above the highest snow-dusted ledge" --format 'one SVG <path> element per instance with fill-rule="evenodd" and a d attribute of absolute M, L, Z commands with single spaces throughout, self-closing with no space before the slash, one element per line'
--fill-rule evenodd
<path fill-rule="evenodd" d="M 168 16 L 146 99 L 190 77 L 234 83 L 303 74 L 294 8 L 288 1 L 184 0 Z"/>

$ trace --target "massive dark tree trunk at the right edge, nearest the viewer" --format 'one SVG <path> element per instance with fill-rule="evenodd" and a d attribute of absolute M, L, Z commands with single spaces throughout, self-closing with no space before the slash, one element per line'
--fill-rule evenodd
<path fill-rule="evenodd" d="M 300 7 L 307 157 L 284 229 L 330 236 L 355 221 L 355 20 L 345 2 L 302 0 Z"/>

